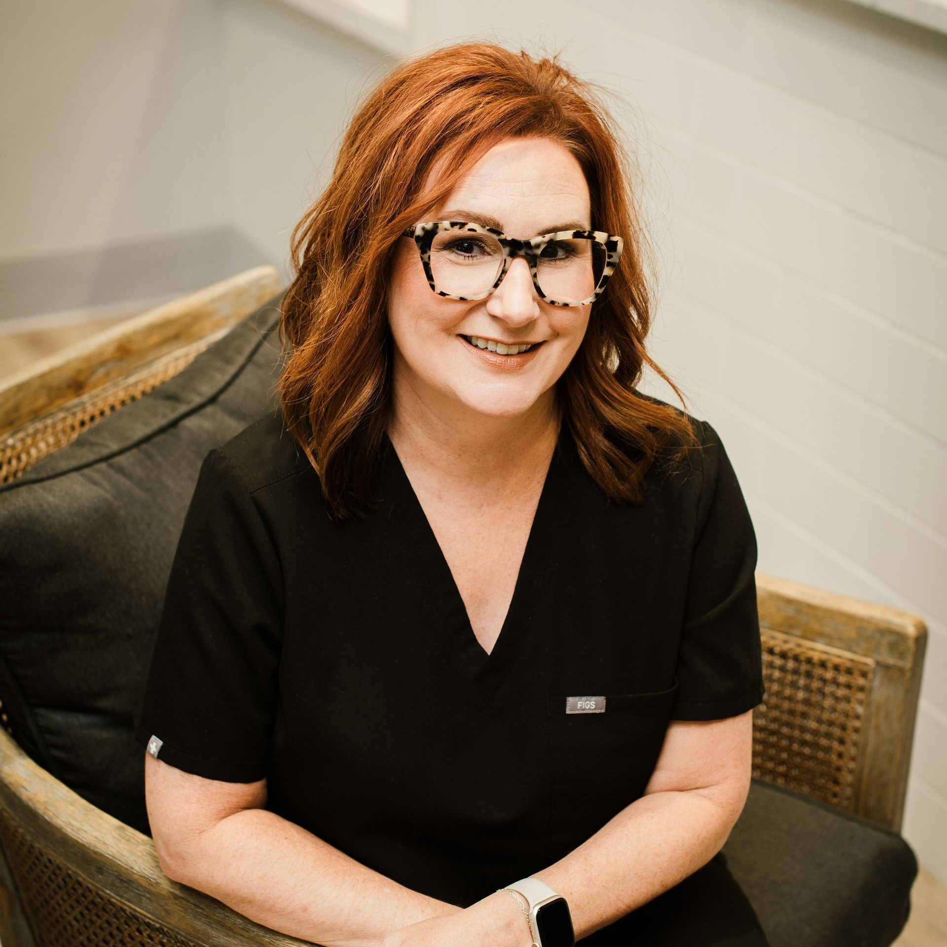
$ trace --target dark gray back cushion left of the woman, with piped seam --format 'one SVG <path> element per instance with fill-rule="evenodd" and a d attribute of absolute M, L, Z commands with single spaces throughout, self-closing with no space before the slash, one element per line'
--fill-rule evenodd
<path fill-rule="evenodd" d="M 13 737 L 140 831 L 133 723 L 171 560 L 207 451 L 277 404 L 281 299 L 0 487 L 0 699 Z"/>

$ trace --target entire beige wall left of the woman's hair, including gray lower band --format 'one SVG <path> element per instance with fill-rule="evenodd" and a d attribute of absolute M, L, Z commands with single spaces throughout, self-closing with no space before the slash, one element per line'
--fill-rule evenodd
<path fill-rule="evenodd" d="M 0 335 L 250 266 L 331 172 L 383 54 L 277 0 L 13 0 L 0 29 Z"/>

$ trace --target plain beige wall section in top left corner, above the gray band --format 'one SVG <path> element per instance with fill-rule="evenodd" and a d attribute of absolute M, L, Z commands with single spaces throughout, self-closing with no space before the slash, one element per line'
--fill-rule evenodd
<path fill-rule="evenodd" d="M 5 2 L 0 259 L 229 217 L 217 4 Z"/>

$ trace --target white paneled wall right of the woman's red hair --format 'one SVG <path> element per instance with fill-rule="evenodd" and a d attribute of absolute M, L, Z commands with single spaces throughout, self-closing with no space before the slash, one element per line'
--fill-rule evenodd
<path fill-rule="evenodd" d="M 724 439 L 759 570 L 927 622 L 903 832 L 947 883 L 947 36 L 841 0 L 418 12 L 419 45 L 541 39 L 633 104 L 654 351 Z"/>

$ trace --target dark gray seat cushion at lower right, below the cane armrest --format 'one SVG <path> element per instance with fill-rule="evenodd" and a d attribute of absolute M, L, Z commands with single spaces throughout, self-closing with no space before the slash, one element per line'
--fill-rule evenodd
<path fill-rule="evenodd" d="M 890 947 L 910 913 L 901 835 L 758 779 L 724 854 L 772 947 Z"/>

